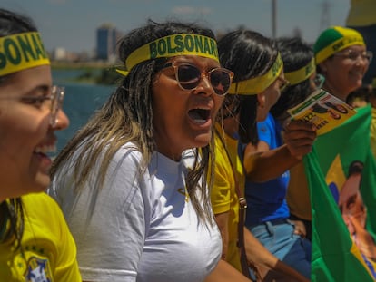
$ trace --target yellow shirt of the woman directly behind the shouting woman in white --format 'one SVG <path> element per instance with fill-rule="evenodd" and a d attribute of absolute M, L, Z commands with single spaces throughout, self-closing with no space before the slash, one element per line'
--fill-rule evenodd
<path fill-rule="evenodd" d="M 224 143 L 227 152 L 223 146 Z M 229 212 L 229 244 L 226 260 L 233 267 L 242 271 L 239 248 L 237 247 L 239 198 L 235 189 L 233 171 L 235 171 L 236 181 L 242 190 L 244 190 L 244 174 L 242 172 L 242 162 L 238 157 L 237 147 L 237 140 L 226 136 L 223 142 L 218 134 L 215 134 L 215 172 L 211 200 L 214 214 Z M 232 168 L 232 164 L 234 168 Z"/>

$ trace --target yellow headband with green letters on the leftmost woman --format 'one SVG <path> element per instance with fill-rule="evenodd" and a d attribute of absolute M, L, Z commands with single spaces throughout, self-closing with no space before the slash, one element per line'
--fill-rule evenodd
<path fill-rule="evenodd" d="M 37 32 L 0 37 L 0 76 L 50 64 Z"/>

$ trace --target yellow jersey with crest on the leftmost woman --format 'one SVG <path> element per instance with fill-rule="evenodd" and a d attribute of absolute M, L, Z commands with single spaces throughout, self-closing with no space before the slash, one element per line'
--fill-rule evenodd
<path fill-rule="evenodd" d="M 22 197 L 25 228 L 21 248 L 0 243 L 0 281 L 78 282 L 76 248 L 62 211 L 45 193 Z"/>

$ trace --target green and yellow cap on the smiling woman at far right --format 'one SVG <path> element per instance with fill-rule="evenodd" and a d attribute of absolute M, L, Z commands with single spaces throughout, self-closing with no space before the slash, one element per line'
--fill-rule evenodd
<path fill-rule="evenodd" d="M 313 45 L 316 64 L 352 45 L 365 45 L 363 37 L 356 30 L 341 26 L 326 29 Z"/>

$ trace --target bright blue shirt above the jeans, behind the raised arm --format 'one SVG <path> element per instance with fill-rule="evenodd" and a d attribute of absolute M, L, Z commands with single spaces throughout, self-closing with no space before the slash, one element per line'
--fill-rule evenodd
<path fill-rule="evenodd" d="M 270 150 L 280 147 L 282 127 L 269 113 L 264 122 L 257 122 L 260 141 L 269 144 Z M 242 152 L 246 145 L 242 144 Z M 243 154 L 241 153 L 243 158 Z M 247 214 L 245 225 L 256 225 L 273 219 L 287 219 L 290 211 L 286 202 L 287 186 L 290 172 L 286 170 L 282 176 L 262 183 L 246 181 L 245 198 Z"/>

